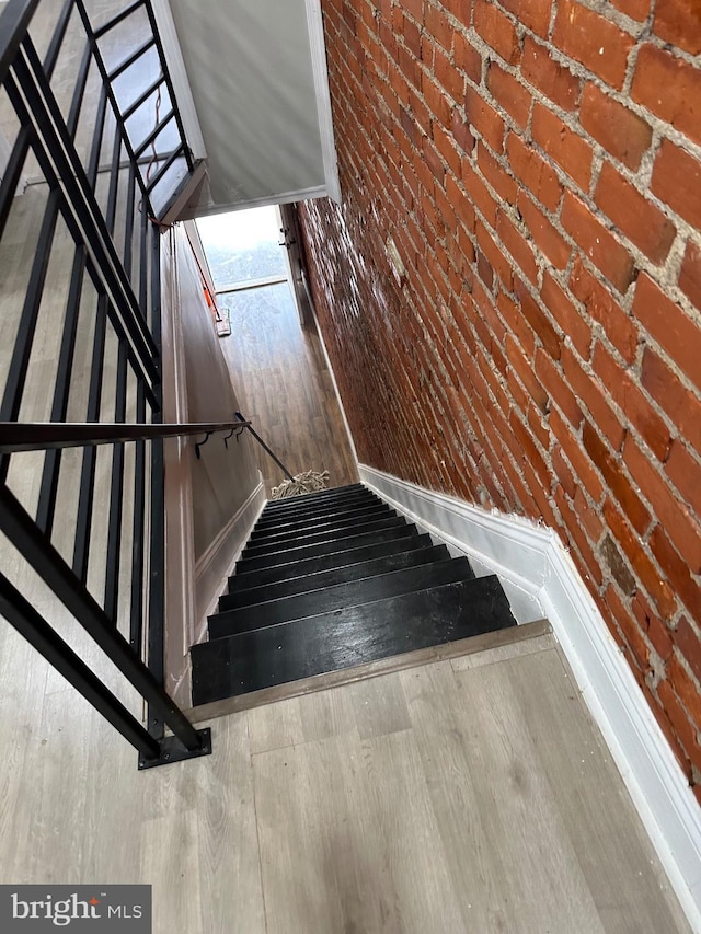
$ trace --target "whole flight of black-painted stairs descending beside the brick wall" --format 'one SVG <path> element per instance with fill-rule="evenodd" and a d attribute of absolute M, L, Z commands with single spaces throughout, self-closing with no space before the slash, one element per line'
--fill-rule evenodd
<path fill-rule="evenodd" d="M 361 484 L 268 503 L 191 649 L 193 704 L 514 625 L 496 576 Z"/>

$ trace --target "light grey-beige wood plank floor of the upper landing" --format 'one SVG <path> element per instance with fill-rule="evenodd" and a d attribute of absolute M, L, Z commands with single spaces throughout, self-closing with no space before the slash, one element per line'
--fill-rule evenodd
<path fill-rule="evenodd" d="M 688 926 L 550 636 L 135 754 L 0 629 L 0 880 L 153 886 L 156 934 Z"/>

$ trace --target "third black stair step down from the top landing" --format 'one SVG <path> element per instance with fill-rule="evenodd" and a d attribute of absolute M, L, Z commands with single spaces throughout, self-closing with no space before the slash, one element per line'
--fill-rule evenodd
<path fill-rule="evenodd" d="M 233 590 L 219 598 L 219 611 L 254 607 L 256 603 L 264 603 L 267 600 L 294 597 L 297 593 L 320 590 L 322 587 L 334 587 L 336 584 L 374 577 L 377 574 L 387 574 L 390 570 L 399 570 L 403 567 L 418 567 L 422 564 L 444 561 L 447 557 L 448 549 L 445 545 L 428 545 L 424 549 L 399 552 L 371 561 L 346 564 L 343 567 L 332 567 L 329 570 L 318 570 L 315 574 L 303 574 L 300 577 L 292 577 L 289 580 L 266 584 L 261 587 Z"/>

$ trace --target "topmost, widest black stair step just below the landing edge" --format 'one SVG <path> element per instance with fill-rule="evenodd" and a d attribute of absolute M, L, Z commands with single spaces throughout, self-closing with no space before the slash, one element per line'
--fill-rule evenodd
<path fill-rule="evenodd" d="M 514 625 L 494 575 L 307 616 L 193 646 L 193 704 Z"/>

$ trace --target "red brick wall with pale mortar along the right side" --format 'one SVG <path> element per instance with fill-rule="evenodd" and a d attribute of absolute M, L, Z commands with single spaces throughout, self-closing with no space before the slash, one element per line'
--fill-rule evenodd
<path fill-rule="evenodd" d="M 556 529 L 701 799 L 701 4 L 323 10 L 359 458 Z"/>

